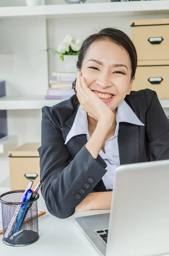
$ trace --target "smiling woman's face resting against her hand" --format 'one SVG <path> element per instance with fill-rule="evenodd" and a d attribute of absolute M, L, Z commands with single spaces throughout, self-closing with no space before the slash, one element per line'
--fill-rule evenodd
<path fill-rule="evenodd" d="M 132 67 L 129 56 L 125 50 L 111 41 L 91 44 L 80 71 L 90 90 L 97 96 L 104 97 L 103 102 L 111 110 L 117 108 L 132 90 Z"/>

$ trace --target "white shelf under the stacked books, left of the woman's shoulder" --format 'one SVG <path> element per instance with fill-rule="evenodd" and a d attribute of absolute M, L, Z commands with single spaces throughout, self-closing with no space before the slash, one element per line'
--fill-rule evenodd
<path fill-rule="evenodd" d="M 43 106 L 52 107 L 65 99 L 45 99 L 37 96 L 4 96 L 0 98 L 0 110 L 41 109 Z"/>

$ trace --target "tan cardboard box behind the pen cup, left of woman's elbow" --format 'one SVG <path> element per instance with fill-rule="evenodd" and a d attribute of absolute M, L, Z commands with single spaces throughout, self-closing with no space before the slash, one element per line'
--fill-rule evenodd
<path fill-rule="evenodd" d="M 8 152 L 11 190 L 26 189 L 30 180 L 34 189 L 40 181 L 40 146 L 41 143 L 25 143 Z"/>

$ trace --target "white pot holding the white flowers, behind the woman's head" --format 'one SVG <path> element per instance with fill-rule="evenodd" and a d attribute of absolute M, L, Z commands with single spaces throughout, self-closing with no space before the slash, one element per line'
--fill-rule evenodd
<path fill-rule="evenodd" d="M 63 61 L 65 64 L 65 70 L 67 73 L 76 73 L 77 72 L 77 59 L 78 55 L 63 55 Z"/>

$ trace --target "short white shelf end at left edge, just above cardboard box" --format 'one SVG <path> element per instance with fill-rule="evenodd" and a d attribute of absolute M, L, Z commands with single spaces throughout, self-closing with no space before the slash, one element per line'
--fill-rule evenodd
<path fill-rule="evenodd" d="M 5 136 L 0 139 L 0 153 L 7 153 L 17 146 L 17 136 Z"/>

